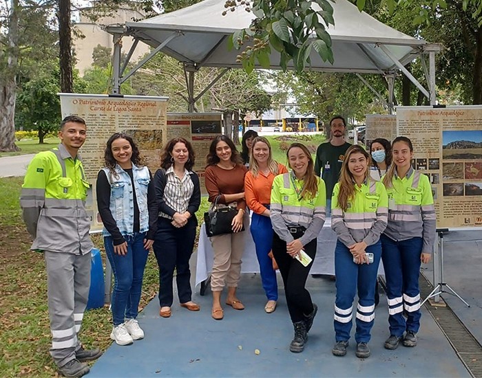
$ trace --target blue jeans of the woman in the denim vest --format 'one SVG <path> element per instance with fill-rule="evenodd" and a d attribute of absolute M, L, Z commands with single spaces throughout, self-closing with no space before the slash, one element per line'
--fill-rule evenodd
<path fill-rule="evenodd" d="M 144 249 L 145 233 L 134 232 L 133 236 L 124 238 L 127 241 L 127 254 L 122 256 L 114 254 L 112 236 L 104 236 L 105 252 L 114 273 L 111 302 L 114 326 L 123 324 L 125 318 L 137 318 L 144 268 L 149 254 Z"/>

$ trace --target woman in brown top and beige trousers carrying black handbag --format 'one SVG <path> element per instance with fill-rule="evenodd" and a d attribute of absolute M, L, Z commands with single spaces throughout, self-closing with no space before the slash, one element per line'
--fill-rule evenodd
<path fill-rule="evenodd" d="M 236 288 L 241 275 L 241 257 L 244 250 L 244 235 L 241 232 L 243 221 L 248 225 L 246 201 L 244 200 L 244 175 L 247 168 L 242 165 L 240 154 L 233 142 L 226 135 L 218 135 L 207 155 L 205 185 L 209 194 L 209 202 L 218 205 L 232 206 L 238 214 L 232 223 L 232 234 L 211 236 L 214 251 L 213 271 L 211 273 L 211 291 L 213 292 L 212 317 L 221 320 L 224 311 L 221 307 L 221 292 L 227 283 L 228 295 L 226 304 L 236 310 L 244 309 L 244 305 L 236 296 Z"/>

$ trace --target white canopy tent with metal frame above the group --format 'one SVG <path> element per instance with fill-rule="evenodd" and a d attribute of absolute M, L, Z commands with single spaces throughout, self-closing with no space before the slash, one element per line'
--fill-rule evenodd
<path fill-rule="evenodd" d="M 365 12 L 359 12 L 357 7 L 348 0 L 336 0 L 332 5 L 335 26 L 330 25 L 327 30 L 333 41 L 335 62 L 333 65 L 323 62 L 317 52 L 312 50 L 311 67 L 307 69 L 383 74 L 388 78 L 389 109 L 392 107 L 395 73 L 401 70 L 430 99 L 431 104 L 435 103 L 434 55 L 440 51 L 439 45 L 433 45 L 401 33 Z M 312 6 L 313 9 L 317 7 L 316 4 Z M 241 63 L 236 63 L 236 56 L 240 52 L 235 49 L 229 51 L 227 41 L 236 30 L 249 27 L 255 16 L 252 12 L 246 12 L 242 7 L 235 12 L 228 11 L 226 16 L 222 16 L 223 10 L 224 0 L 205 0 L 151 19 L 107 27 L 107 31 L 114 35 L 113 93 L 120 93 L 122 82 L 134 74 L 136 69 L 142 67 L 154 54 L 163 52 L 184 64 L 189 94 L 189 111 L 193 111 L 193 104 L 196 100 L 222 76 L 220 74 L 207 89 L 195 97 L 193 93 L 194 73 L 200 67 L 242 68 Z M 126 35 L 135 39 L 135 43 L 127 55 L 127 60 L 132 56 L 138 41 L 147 43 L 154 50 L 132 71 L 123 75 L 127 62 L 120 67 L 120 41 L 122 36 Z M 415 58 L 422 58 L 423 67 L 426 68 L 425 54 L 429 56 L 429 69 L 425 69 L 428 90 L 404 67 Z M 280 54 L 273 50 L 270 59 L 271 68 L 280 69 Z M 257 68 L 261 67 L 257 66 Z M 379 93 L 377 95 L 381 96 Z"/>

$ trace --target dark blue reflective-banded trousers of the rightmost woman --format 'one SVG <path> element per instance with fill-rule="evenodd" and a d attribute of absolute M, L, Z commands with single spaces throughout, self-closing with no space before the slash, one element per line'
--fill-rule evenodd
<path fill-rule="evenodd" d="M 381 260 L 384 263 L 390 335 L 420 328 L 419 274 L 422 238 L 394 241 L 381 235 Z M 407 320 L 404 318 L 404 309 Z"/>

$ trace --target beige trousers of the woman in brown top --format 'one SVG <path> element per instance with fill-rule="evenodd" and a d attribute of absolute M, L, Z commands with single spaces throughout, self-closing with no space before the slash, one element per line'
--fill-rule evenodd
<path fill-rule="evenodd" d="M 244 228 L 249 225 L 247 216 L 243 219 Z M 222 291 L 222 288 L 238 287 L 241 276 L 242 253 L 244 252 L 245 232 L 211 236 L 214 252 L 213 270 L 211 271 L 211 291 Z"/>

